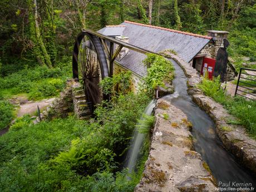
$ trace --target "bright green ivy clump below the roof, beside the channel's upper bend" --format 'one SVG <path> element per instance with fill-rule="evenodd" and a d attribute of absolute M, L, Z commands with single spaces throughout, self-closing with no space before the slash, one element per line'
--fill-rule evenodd
<path fill-rule="evenodd" d="M 174 67 L 170 61 L 163 56 L 148 54 L 143 61 L 147 66 L 147 76 L 143 78 L 142 87 L 151 92 L 157 86 L 165 86 L 165 83 L 171 83 L 174 78 Z"/>

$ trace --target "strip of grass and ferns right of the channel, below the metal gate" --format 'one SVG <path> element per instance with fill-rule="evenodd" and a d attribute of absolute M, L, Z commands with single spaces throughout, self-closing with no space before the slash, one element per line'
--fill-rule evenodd
<path fill-rule="evenodd" d="M 256 102 L 245 100 L 242 97 L 231 97 L 226 95 L 220 88 L 220 79 L 214 78 L 213 81 L 203 78 L 199 88 L 205 95 L 212 97 L 215 101 L 222 104 L 228 112 L 238 118 L 238 121 L 229 121 L 231 124 L 241 124 L 247 129 L 248 133 L 256 139 Z"/>

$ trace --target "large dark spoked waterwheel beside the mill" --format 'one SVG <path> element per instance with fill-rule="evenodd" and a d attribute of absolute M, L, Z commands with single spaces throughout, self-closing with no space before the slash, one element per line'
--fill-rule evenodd
<path fill-rule="evenodd" d="M 107 99 L 99 86 L 100 81 L 109 76 L 104 49 L 99 38 L 81 32 L 73 50 L 73 78 L 82 80 L 86 100 L 94 107 L 102 99 Z"/>

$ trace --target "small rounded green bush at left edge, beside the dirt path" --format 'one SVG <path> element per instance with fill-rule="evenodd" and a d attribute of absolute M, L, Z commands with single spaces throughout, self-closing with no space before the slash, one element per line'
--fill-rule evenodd
<path fill-rule="evenodd" d="M 0 130 L 6 128 L 13 119 L 14 107 L 8 101 L 0 100 Z"/>

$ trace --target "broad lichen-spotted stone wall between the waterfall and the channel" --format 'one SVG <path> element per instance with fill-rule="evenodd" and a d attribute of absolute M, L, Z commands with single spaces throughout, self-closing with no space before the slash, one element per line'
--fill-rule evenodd
<path fill-rule="evenodd" d="M 191 124 L 186 115 L 159 99 L 155 118 L 149 158 L 135 191 L 215 191 L 208 165 L 193 150 Z"/>

